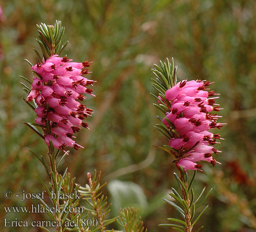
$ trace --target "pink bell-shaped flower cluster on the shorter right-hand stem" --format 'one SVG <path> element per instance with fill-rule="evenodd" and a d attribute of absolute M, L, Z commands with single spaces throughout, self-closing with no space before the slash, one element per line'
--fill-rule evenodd
<path fill-rule="evenodd" d="M 175 127 L 175 137 L 169 141 L 179 157 L 176 165 L 185 170 L 202 168 L 201 161 L 208 161 L 213 166 L 218 163 L 212 154 L 218 151 L 213 147 L 216 139 L 222 139 L 220 134 L 213 134 L 209 129 L 220 129 L 225 123 L 217 123 L 217 116 L 211 111 L 219 111 L 215 103 L 215 91 L 207 91 L 209 81 L 183 80 L 167 90 L 165 97 L 171 103 L 170 112 L 166 114 L 167 120 L 163 123 L 169 128 Z M 170 123 L 171 122 L 171 123 Z"/>

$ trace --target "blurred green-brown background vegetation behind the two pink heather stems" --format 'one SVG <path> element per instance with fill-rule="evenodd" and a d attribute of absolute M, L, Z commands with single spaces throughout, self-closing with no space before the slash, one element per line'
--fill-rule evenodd
<path fill-rule="evenodd" d="M 162 196 L 177 187 L 172 157 L 151 145 L 165 141 L 153 124 L 156 114 L 149 92 L 151 68 L 174 57 L 178 78 L 214 81 L 212 90 L 224 108 L 225 141 L 216 147 L 222 162 L 205 164 L 195 192 L 213 191 L 201 219 L 205 232 L 256 232 L 256 1 L 255 0 L 8 0 L 0 3 L 0 229 L 39 232 L 37 227 L 3 227 L 4 218 L 40 220 L 41 214 L 6 214 L 4 206 L 30 206 L 36 200 L 6 200 L 3 193 L 43 190 L 35 174 L 47 180 L 41 164 L 28 152 L 46 155 L 43 141 L 22 121 L 35 114 L 23 102 L 19 75 L 32 78 L 30 66 L 39 50 L 36 24 L 60 19 L 69 39 L 64 54 L 74 61 L 93 61 L 89 77 L 96 80 L 87 105 L 94 110 L 78 142 L 85 147 L 62 163 L 86 183 L 94 168 L 108 181 L 104 193 L 121 206 L 135 206 L 149 232 L 171 231 L 157 226 L 178 217 Z M 64 55 L 63 54 L 63 55 Z M 219 131 L 218 131 L 219 132 Z M 190 173 L 191 175 L 192 173 Z M 45 217 L 47 219 L 47 217 Z M 199 224 L 198 224 L 199 226 Z"/>

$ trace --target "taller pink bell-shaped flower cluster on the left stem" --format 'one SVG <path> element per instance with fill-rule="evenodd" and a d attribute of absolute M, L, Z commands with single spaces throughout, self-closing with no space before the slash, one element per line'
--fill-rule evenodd
<path fill-rule="evenodd" d="M 80 101 L 86 98 L 83 93 L 93 95 L 88 85 L 93 85 L 94 81 L 82 76 L 88 74 L 86 67 L 90 66 L 90 62 L 71 61 L 67 57 L 53 55 L 43 63 L 35 64 L 32 70 L 39 75 L 34 77 L 26 101 L 34 99 L 38 106 L 35 122 L 49 125 L 50 132 L 47 132 L 47 127 L 44 129 L 48 146 L 52 141 L 54 148 L 73 147 L 78 150 L 82 147 L 74 141 L 74 133 L 81 127 L 88 128 L 83 120 L 92 115 L 92 110 Z"/>

